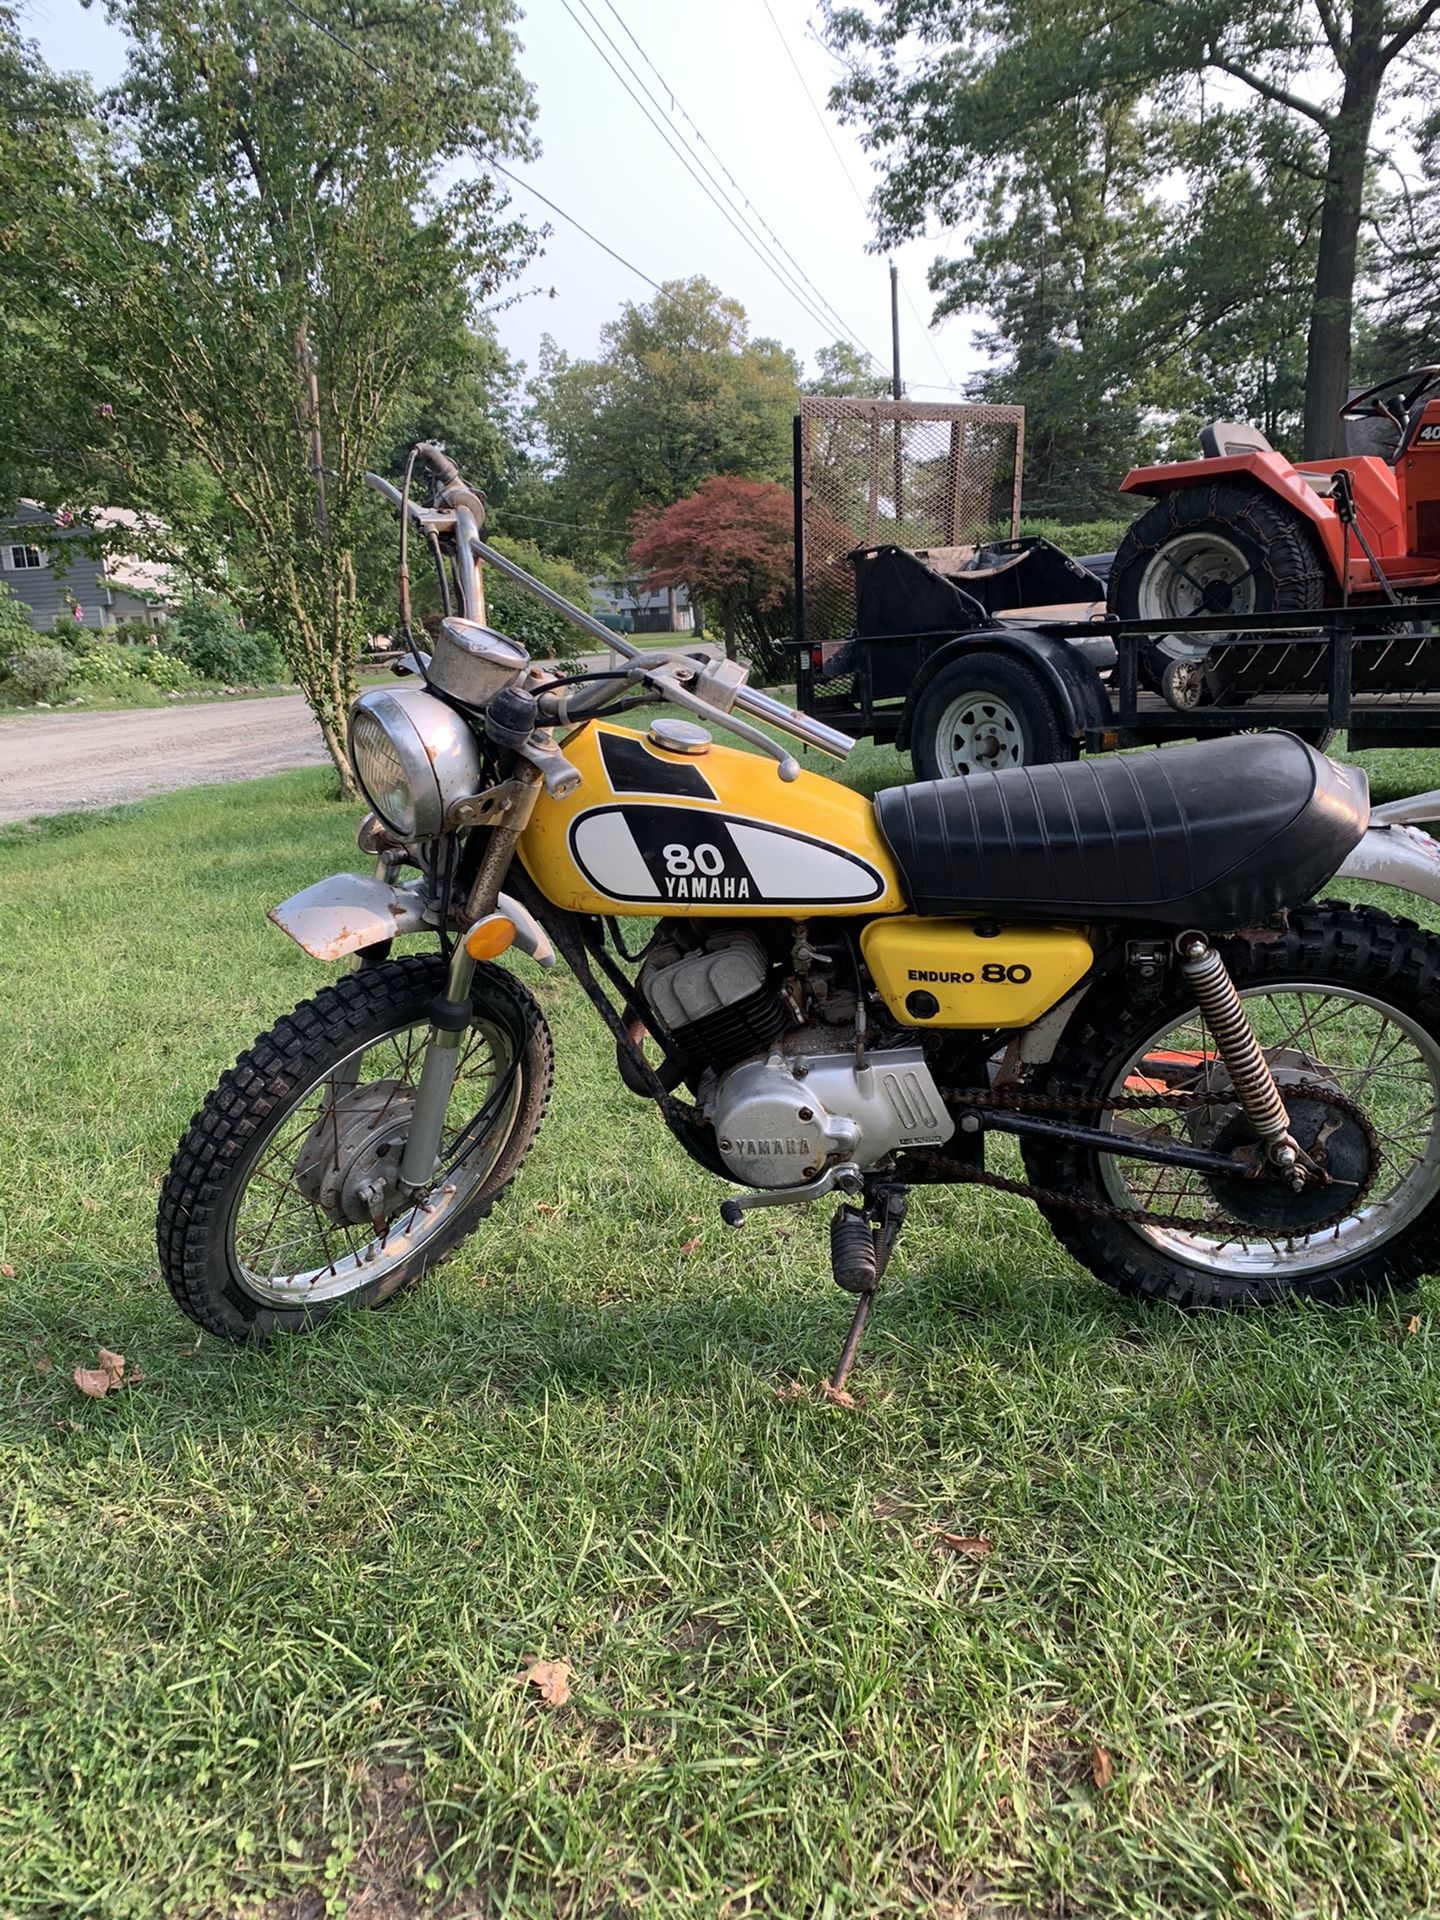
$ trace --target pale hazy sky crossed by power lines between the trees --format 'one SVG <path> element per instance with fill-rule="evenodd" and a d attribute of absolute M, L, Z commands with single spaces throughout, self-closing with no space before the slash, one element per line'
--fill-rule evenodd
<path fill-rule="evenodd" d="M 25 0 L 23 27 L 52 67 L 88 71 L 102 86 L 121 73 L 123 36 L 98 6 Z M 651 280 L 707 275 L 745 305 L 755 334 L 781 340 L 806 369 L 849 330 L 889 372 L 889 275 L 885 259 L 866 252 L 874 171 L 854 132 L 824 106 L 839 69 L 816 29 L 814 0 L 530 0 L 520 67 L 536 88 L 541 154 L 513 171 Z M 697 167 L 703 159 L 712 173 L 730 171 L 755 209 L 747 217 L 756 244 L 764 252 L 778 240 L 789 252 L 780 265 L 814 313 L 735 232 L 676 148 Z M 541 334 L 574 357 L 595 353 L 601 324 L 653 288 L 524 188 L 513 198 L 532 225 L 553 230 L 511 288 L 522 298 L 495 315 L 503 346 L 530 367 Z M 924 324 L 925 269 L 937 252 L 945 242 L 925 238 L 895 253 L 900 372 L 920 399 L 958 397 L 945 388 L 981 359 L 966 321 Z"/>

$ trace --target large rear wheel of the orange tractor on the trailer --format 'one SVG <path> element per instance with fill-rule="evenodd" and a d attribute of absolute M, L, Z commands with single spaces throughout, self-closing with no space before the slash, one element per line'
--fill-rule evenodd
<path fill-rule="evenodd" d="M 1311 612 L 1327 586 L 1325 557 L 1298 513 L 1261 488 L 1215 480 L 1165 493 L 1140 515 L 1116 549 L 1106 605 L 1119 620 L 1150 622 Z M 1204 655 L 1181 636 L 1140 647 L 1142 682 L 1162 691 L 1175 659 L 1206 662 L 1204 703 L 1227 703 L 1225 655 Z"/>

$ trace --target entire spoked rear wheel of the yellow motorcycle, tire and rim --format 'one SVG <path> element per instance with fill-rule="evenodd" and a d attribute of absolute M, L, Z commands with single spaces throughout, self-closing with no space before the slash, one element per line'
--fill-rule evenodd
<path fill-rule="evenodd" d="M 1181 1308 L 1338 1304 L 1436 1271 L 1440 941 L 1375 908 L 1329 902 L 1292 912 L 1284 933 L 1238 933 L 1217 947 L 1292 1135 L 1332 1185 L 1290 1194 L 1263 1177 L 1027 1142 L 1031 1183 L 1085 1208 L 1043 1202 L 1056 1238 L 1119 1292 Z M 1179 979 L 1150 1002 L 1127 981 L 1098 987 L 1039 1091 L 1073 1100 L 1081 1121 L 1112 1133 L 1254 1154 L 1213 1037 Z"/>

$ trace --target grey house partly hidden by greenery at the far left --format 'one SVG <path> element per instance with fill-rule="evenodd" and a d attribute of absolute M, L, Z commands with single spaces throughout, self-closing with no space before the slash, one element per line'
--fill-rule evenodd
<path fill-rule="evenodd" d="M 165 568 L 129 555 L 100 555 L 84 540 L 92 528 L 138 526 L 140 516 L 125 507 L 106 507 L 92 515 L 92 526 L 81 526 L 23 499 L 0 520 L 0 580 L 40 632 L 50 630 L 56 614 L 83 626 L 163 620 L 175 607 Z"/>

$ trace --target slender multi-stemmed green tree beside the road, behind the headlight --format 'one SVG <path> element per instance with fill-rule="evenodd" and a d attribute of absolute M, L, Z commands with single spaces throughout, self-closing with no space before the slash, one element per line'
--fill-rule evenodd
<path fill-rule="evenodd" d="M 522 150 L 509 0 L 111 0 L 111 146 L 23 296 L 56 488 L 275 632 L 349 785 L 363 476 L 524 257 L 463 156 Z"/>

